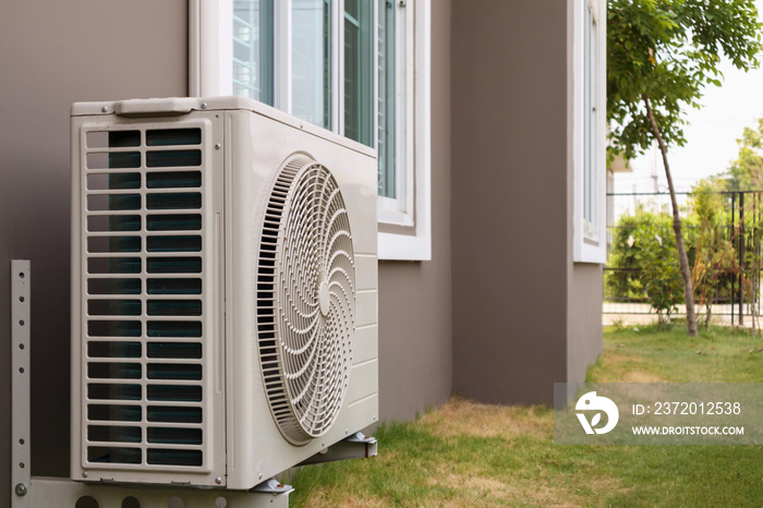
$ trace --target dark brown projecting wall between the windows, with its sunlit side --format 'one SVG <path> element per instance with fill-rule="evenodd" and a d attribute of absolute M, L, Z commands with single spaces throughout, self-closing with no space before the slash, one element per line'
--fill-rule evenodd
<path fill-rule="evenodd" d="M 601 343 L 601 267 L 571 262 L 569 2 L 452 4 L 453 389 L 550 403 Z"/>

